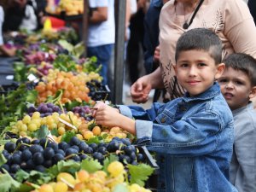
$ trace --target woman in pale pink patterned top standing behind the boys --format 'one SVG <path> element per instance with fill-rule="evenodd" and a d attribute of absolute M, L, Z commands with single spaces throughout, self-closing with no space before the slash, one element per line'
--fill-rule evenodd
<path fill-rule="evenodd" d="M 205 27 L 218 34 L 223 58 L 234 52 L 256 58 L 256 27 L 242 0 L 170 0 L 160 13 L 160 67 L 131 85 L 133 102 L 148 101 L 151 89 L 165 87 L 171 99 L 183 96 L 172 68 L 177 38 L 189 29 Z M 159 54 L 159 53 L 158 53 Z"/>

